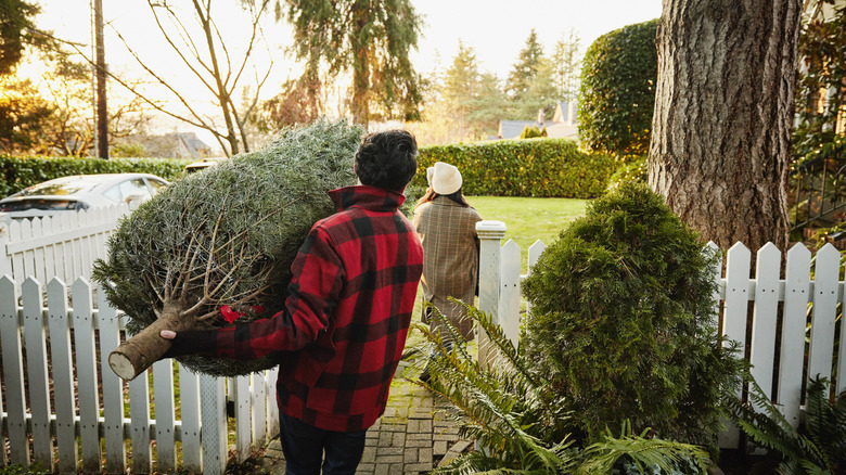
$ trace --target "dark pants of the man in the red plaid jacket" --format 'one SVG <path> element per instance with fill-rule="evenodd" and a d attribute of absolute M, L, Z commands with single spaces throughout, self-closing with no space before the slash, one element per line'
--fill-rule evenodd
<path fill-rule="evenodd" d="M 279 439 L 285 454 L 286 475 L 318 475 L 321 463 L 323 475 L 356 473 L 364 452 L 367 429 L 323 431 L 283 413 L 279 414 Z"/>

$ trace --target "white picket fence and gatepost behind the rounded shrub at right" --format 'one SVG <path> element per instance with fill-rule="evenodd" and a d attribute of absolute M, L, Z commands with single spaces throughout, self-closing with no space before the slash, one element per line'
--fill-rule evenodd
<path fill-rule="evenodd" d="M 480 240 L 479 309 L 491 314 L 516 343 L 523 277 L 521 248 L 513 241 L 501 245 L 505 234 L 505 224 L 501 221 L 480 221 L 476 230 Z M 716 248 L 713 243 L 708 245 Z M 529 247 L 528 272 L 546 247 L 540 241 Z M 811 280 L 811 253 L 800 243 L 794 245 L 787 252 L 782 279 L 782 253 L 768 243 L 758 251 L 755 277 L 751 278 L 752 252 L 738 243 L 726 253 L 726 275 L 721 274 L 721 264 L 714 273 L 719 294 L 715 295 L 715 318 L 722 335 L 741 343 L 741 347 L 748 343 L 746 358 L 753 364 L 753 376 L 794 426 L 799 422 L 803 381 L 819 374 L 833 381 L 837 394 L 846 389 L 846 331 L 843 330 L 846 325 L 841 324 L 839 346 L 835 346 L 837 306 L 846 298 L 845 284 L 841 280 L 841 255 L 834 246 L 826 244 L 817 252 L 815 260 Z M 746 342 L 749 303 L 754 304 L 752 337 Z M 813 305 L 810 318 L 809 304 Z M 810 343 L 806 363 L 808 326 Z M 776 368 L 779 335 L 781 344 Z M 837 368 L 834 368 L 835 356 Z M 720 446 L 738 447 L 738 439 L 736 428 L 731 428 L 721 435 Z"/>

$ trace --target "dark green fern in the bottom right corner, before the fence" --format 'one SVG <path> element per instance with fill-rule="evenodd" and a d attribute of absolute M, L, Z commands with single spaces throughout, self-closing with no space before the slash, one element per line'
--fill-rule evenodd
<path fill-rule="evenodd" d="M 776 457 L 779 473 L 846 473 L 846 390 L 830 401 L 828 380 L 812 378 L 804 416 L 799 426 L 793 427 L 755 380 L 747 378 L 748 401 L 731 397 L 728 406 L 738 426 Z"/>

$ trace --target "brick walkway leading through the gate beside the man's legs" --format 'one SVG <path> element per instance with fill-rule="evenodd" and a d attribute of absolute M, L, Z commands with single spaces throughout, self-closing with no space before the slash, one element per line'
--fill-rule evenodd
<path fill-rule="evenodd" d="M 415 371 L 401 361 L 382 415 L 368 431 L 359 474 L 421 474 L 472 448 L 458 435 L 458 427 L 444 413 L 446 405 L 406 378 Z M 284 474 L 285 460 L 279 438 L 265 452 L 260 473 Z"/>

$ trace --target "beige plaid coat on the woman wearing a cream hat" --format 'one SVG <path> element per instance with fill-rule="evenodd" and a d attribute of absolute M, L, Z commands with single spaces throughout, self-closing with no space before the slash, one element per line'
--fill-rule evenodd
<path fill-rule="evenodd" d="M 479 214 L 446 196 L 414 209 L 414 228 L 423 243 L 423 297 L 435 305 L 464 335 L 473 338 L 473 325 L 463 307 L 448 300 L 454 297 L 473 305 L 478 277 Z M 433 332 L 439 331 L 432 328 Z M 441 333 L 445 339 L 448 335 Z"/>

